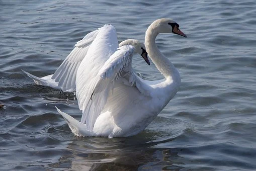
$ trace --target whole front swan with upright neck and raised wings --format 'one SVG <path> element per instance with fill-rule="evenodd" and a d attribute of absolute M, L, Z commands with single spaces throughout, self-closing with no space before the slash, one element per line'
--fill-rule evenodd
<path fill-rule="evenodd" d="M 89 48 L 90 60 L 83 60 L 77 70 L 76 97 L 82 110 L 81 122 L 57 108 L 76 136 L 135 135 L 149 125 L 180 87 L 178 70 L 155 44 L 159 33 L 187 37 L 175 21 L 156 20 L 146 31 L 146 50 L 164 76 L 156 81 L 143 80 L 132 71 L 133 47 L 116 50 L 115 30 L 107 29 L 97 35 Z M 101 56 L 106 55 L 109 59 L 101 61 Z"/>

